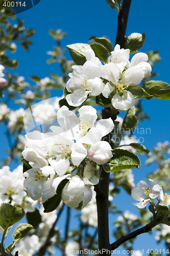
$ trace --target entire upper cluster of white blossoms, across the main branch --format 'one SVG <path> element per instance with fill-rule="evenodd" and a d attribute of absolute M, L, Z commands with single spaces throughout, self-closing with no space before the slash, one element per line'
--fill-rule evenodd
<path fill-rule="evenodd" d="M 69 73 L 67 81 L 66 100 L 71 106 L 81 105 L 88 97 L 102 94 L 110 98 L 115 109 L 128 110 L 135 105 L 135 98 L 127 90 L 136 86 L 143 78 L 151 75 L 151 65 L 147 62 L 145 53 L 135 54 L 129 61 L 130 50 L 120 49 L 116 45 L 108 58 L 102 64 L 92 49 L 85 52 L 86 62 L 83 66 L 72 66 L 73 72 Z M 107 82 L 104 82 L 107 81 Z"/>

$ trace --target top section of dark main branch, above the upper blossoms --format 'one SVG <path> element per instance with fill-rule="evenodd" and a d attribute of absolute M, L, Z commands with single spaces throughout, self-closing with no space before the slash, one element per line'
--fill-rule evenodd
<path fill-rule="evenodd" d="M 118 13 L 118 23 L 117 23 L 117 34 L 115 45 L 120 45 L 120 48 L 124 48 L 126 41 L 126 28 L 128 23 L 128 15 L 132 0 L 124 0 L 122 8 Z"/>

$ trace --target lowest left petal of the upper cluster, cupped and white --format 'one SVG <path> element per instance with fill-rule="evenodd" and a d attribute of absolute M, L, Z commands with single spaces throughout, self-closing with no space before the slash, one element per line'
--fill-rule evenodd
<path fill-rule="evenodd" d="M 70 106 L 80 106 L 86 99 L 89 91 L 78 89 L 71 94 L 67 94 L 66 100 Z"/>

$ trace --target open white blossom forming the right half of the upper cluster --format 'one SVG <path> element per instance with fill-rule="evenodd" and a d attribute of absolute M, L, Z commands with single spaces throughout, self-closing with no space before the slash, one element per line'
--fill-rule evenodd
<path fill-rule="evenodd" d="M 113 92 L 111 102 L 115 109 L 128 110 L 135 105 L 135 98 L 127 86 L 136 86 L 145 77 L 151 75 L 151 65 L 147 62 L 148 55 L 137 53 L 129 62 L 129 49 L 120 49 L 116 45 L 108 59 L 102 66 L 102 77 L 109 80 L 104 86 L 103 96 L 108 98 Z M 111 82 L 111 83 L 110 83 Z"/>

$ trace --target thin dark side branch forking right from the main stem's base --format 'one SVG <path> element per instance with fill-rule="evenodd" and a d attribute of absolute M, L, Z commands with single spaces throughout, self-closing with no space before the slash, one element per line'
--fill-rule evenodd
<path fill-rule="evenodd" d="M 121 244 L 125 243 L 126 241 L 128 241 L 130 239 L 137 237 L 139 234 L 147 233 L 147 232 L 151 231 L 152 228 L 155 227 L 157 224 L 158 223 L 151 221 L 149 224 L 145 225 L 144 227 L 141 227 L 141 228 L 127 234 L 127 236 L 123 236 L 123 237 L 119 238 L 117 241 L 115 241 L 114 243 L 111 244 L 111 249 L 115 250 Z"/>

